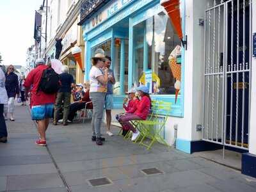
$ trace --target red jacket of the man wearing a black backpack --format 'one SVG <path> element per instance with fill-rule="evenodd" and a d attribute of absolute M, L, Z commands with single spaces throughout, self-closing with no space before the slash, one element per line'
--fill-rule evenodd
<path fill-rule="evenodd" d="M 46 94 L 42 91 L 37 91 L 40 83 L 40 79 L 44 70 L 48 68 L 47 65 L 38 65 L 36 68 L 29 72 L 28 77 L 26 77 L 26 81 L 23 84 L 26 88 L 31 88 L 31 103 L 30 106 L 39 106 L 44 104 L 54 104 L 56 99 L 56 93 L 54 94 Z"/>

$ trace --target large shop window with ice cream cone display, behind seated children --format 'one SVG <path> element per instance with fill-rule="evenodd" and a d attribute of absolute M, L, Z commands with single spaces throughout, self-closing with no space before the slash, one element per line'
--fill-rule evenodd
<path fill-rule="evenodd" d="M 152 94 L 179 92 L 181 47 L 168 15 L 160 12 L 134 26 L 133 31 L 133 82 L 149 86 Z"/>

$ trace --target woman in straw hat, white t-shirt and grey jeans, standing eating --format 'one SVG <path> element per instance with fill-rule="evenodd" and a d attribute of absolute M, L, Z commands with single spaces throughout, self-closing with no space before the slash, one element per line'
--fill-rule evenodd
<path fill-rule="evenodd" d="M 93 104 L 92 115 L 92 141 L 97 145 L 102 145 L 105 139 L 101 137 L 100 125 L 104 113 L 104 103 L 107 92 L 108 68 L 104 67 L 105 55 L 102 49 L 95 51 L 92 58 L 92 68 L 90 70 L 90 99 Z"/>

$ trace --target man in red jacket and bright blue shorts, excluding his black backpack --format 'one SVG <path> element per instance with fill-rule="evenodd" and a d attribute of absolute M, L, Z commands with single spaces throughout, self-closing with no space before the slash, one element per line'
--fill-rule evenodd
<path fill-rule="evenodd" d="M 40 138 L 35 141 L 36 145 L 45 146 L 45 131 L 49 125 L 49 118 L 52 116 L 52 109 L 55 102 L 56 93 L 45 93 L 40 87 L 41 77 L 44 70 L 48 69 L 45 65 L 44 59 L 37 59 L 35 61 L 36 68 L 29 72 L 24 87 L 26 88 L 26 97 L 28 97 L 28 90 L 31 88 L 31 118 L 36 120 L 38 133 Z"/>

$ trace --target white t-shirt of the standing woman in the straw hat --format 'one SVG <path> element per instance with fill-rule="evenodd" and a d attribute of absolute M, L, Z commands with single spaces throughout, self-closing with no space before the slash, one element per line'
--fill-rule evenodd
<path fill-rule="evenodd" d="M 98 68 L 93 66 L 90 70 L 90 92 L 99 92 L 99 88 L 106 88 L 105 84 L 101 84 L 97 77 L 103 76 L 102 71 Z"/>

